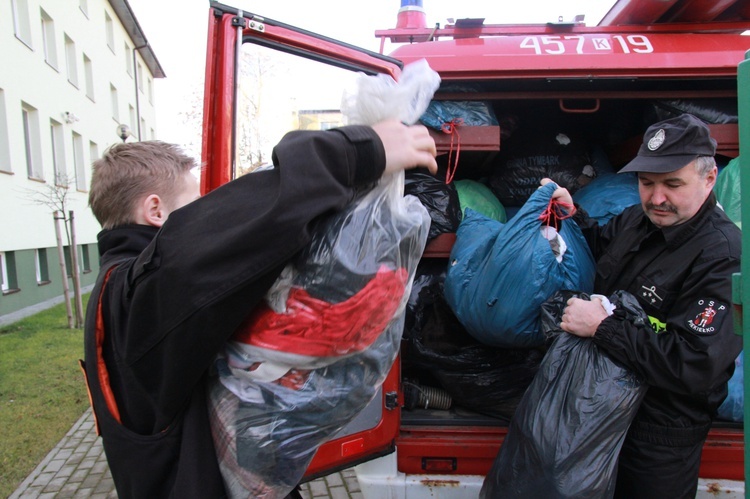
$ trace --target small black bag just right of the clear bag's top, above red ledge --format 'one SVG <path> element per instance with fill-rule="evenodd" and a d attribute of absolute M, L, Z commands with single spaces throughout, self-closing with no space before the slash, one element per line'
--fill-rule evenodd
<path fill-rule="evenodd" d="M 453 184 L 446 184 L 427 173 L 408 171 L 404 194 L 416 196 L 427 208 L 432 221 L 427 241 L 446 232 L 456 232 L 461 222 L 461 202 Z"/>

